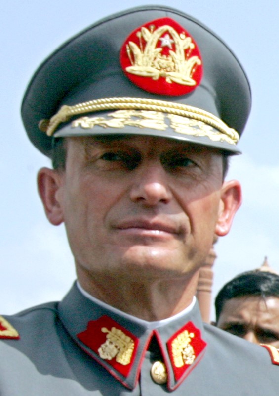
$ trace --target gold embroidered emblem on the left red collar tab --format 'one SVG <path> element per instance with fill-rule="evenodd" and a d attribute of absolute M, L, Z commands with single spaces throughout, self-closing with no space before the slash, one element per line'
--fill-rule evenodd
<path fill-rule="evenodd" d="M 102 332 L 107 333 L 107 340 L 99 347 L 99 356 L 106 360 L 116 357 L 118 363 L 124 366 L 129 364 L 134 350 L 133 340 L 115 327 L 111 330 L 103 327 Z"/>

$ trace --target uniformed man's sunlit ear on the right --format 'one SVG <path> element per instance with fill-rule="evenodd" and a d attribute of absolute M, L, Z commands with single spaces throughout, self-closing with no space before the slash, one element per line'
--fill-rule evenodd
<path fill-rule="evenodd" d="M 218 220 L 215 228 L 216 235 L 223 237 L 228 234 L 241 202 L 240 183 L 237 180 L 224 182 L 221 189 Z"/>

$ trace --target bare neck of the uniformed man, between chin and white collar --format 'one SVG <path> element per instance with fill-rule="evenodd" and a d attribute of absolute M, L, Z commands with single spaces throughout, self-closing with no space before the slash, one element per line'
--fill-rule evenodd
<path fill-rule="evenodd" d="M 164 279 L 124 282 L 100 276 L 94 280 L 78 271 L 82 289 L 90 296 L 129 315 L 146 321 L 159 321 L 178 314 L 191 305 L 196 294 L 199 272 L 190 279 Z M 95 281 L 98 279 L 98 281 Z"/>

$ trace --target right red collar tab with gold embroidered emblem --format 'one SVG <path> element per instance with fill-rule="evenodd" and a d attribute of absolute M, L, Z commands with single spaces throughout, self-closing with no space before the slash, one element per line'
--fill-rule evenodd
<path fill-rule="evenodd" d="M 188 322 L 168 340 L 167 348 L 176 381 L 192 371 L 206 345 L 199 329 L 192 322 Z"/>

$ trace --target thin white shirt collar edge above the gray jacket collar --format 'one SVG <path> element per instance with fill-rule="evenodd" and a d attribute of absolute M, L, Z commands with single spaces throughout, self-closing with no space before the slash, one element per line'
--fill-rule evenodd
<path fill-rule="evenodd" d="M 112 311 L 114 313 L 117 313 L 118 315 L 121 315 L 121 316 L 125 317 L 126 319 L 129 319 L 129 320 L 131 320 L 131 321 L 133 321 L 135 323 L 138 323 L 138 324 L 146 327 L 147 329 L 156 329 L 156 328 L 158 328 L 160 326 L 166 325 L 168 323 L 171 323 L 171 322 L 179 319 L 180 317 L 182 317 L 182 316 L 186 315 L 187 313 L 191 312 L 193 307 L 194 307 L 194 305 L 195 305 L 195 302 L 196 302 L 196 297 L 194 296 L 193 297 L 193 301 L 191 302 L 191 304 L 187 308 L 185 308 L 183 311 L 177 313 L 174 316 L 171 316 L 170 318 L 149 322 L 147 320 L 139 319 L 136 316 L 129 315 L 128 313 L 120 311 L 120 309 L 114 308 L 113 306 L 106 304 L 105 302 L 99 300 L 98 298 L 91 296 L 89 293 L 85 292 L 85 290 L 80 286 L 79 281 L 77 281 L 77 286 L 78 286 L 78 289 L 80 290 L 80 293 L 84 297 L 86 297 L 89 300 L 97 303 L 98 305 L 102 306 L 105 309 L 109 309 L 110 311 Z"/>

